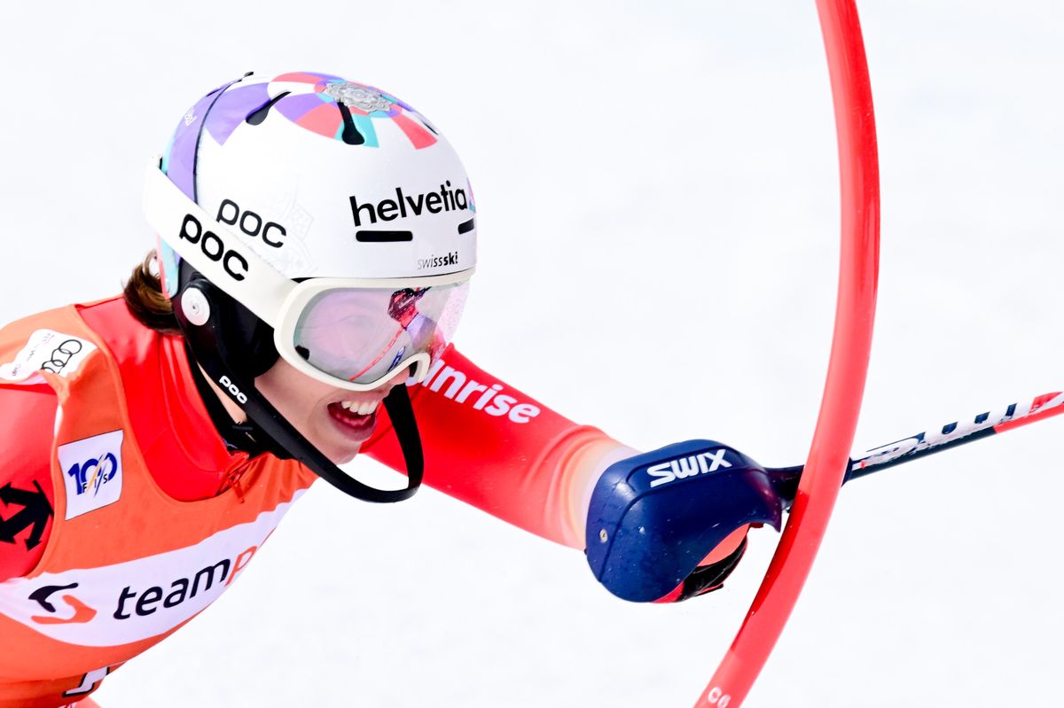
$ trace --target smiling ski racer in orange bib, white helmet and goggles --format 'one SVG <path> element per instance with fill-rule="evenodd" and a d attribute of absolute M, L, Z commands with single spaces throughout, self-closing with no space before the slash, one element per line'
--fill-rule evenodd
<path fill-rule="evenodd" d="M 0 330 L 0 706 L 92 705 L 216 600 L 319 477 L 370 502 L 423 478 L 585 551 L 682 550 L 665 570 L 595 556 L 630 600 L 703 594 L 741 558 L 746 524 L 704 534 L 677 495 L 624 482 L 642 469 L 678 489 L 737 453 L 641 454 L 451 343 L 473 193 L 396 97 L 321 73 L 229 82 L 181 118 L 145 205 L 156 249 L 122 294 Z M 340 469 L 360 452 L 406 487 Z M 653 518 L 685 530 L 662 541 L 639 521 Z M 647 589 L 654 573 L 667 585 Z"/>

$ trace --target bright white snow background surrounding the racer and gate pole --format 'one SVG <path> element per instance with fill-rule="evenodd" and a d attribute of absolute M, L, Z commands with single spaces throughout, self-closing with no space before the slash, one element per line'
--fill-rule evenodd
<path fill-rule="evenodd" d="M 861 11 L 883 237 L 855 451 L 1064 385 L 1064 6 Z M 463 156 L 475 361 L 636 448 L 805 457 L 838 239 L 812 1 L 12 2 L 0 66 L 0 321 L 119 290 L 152 243 L 145 161 L 206 90 L 334 72 L 410 101 Z M 848 486 L 747 705 L 1060 705 L 1062 433 Z M 755 533 L 709 597 L 631 605 L 582 554 L 443 494 L 377 507 L 322 484 L 97 697 L 685 708 L 776 541 Z"/>

